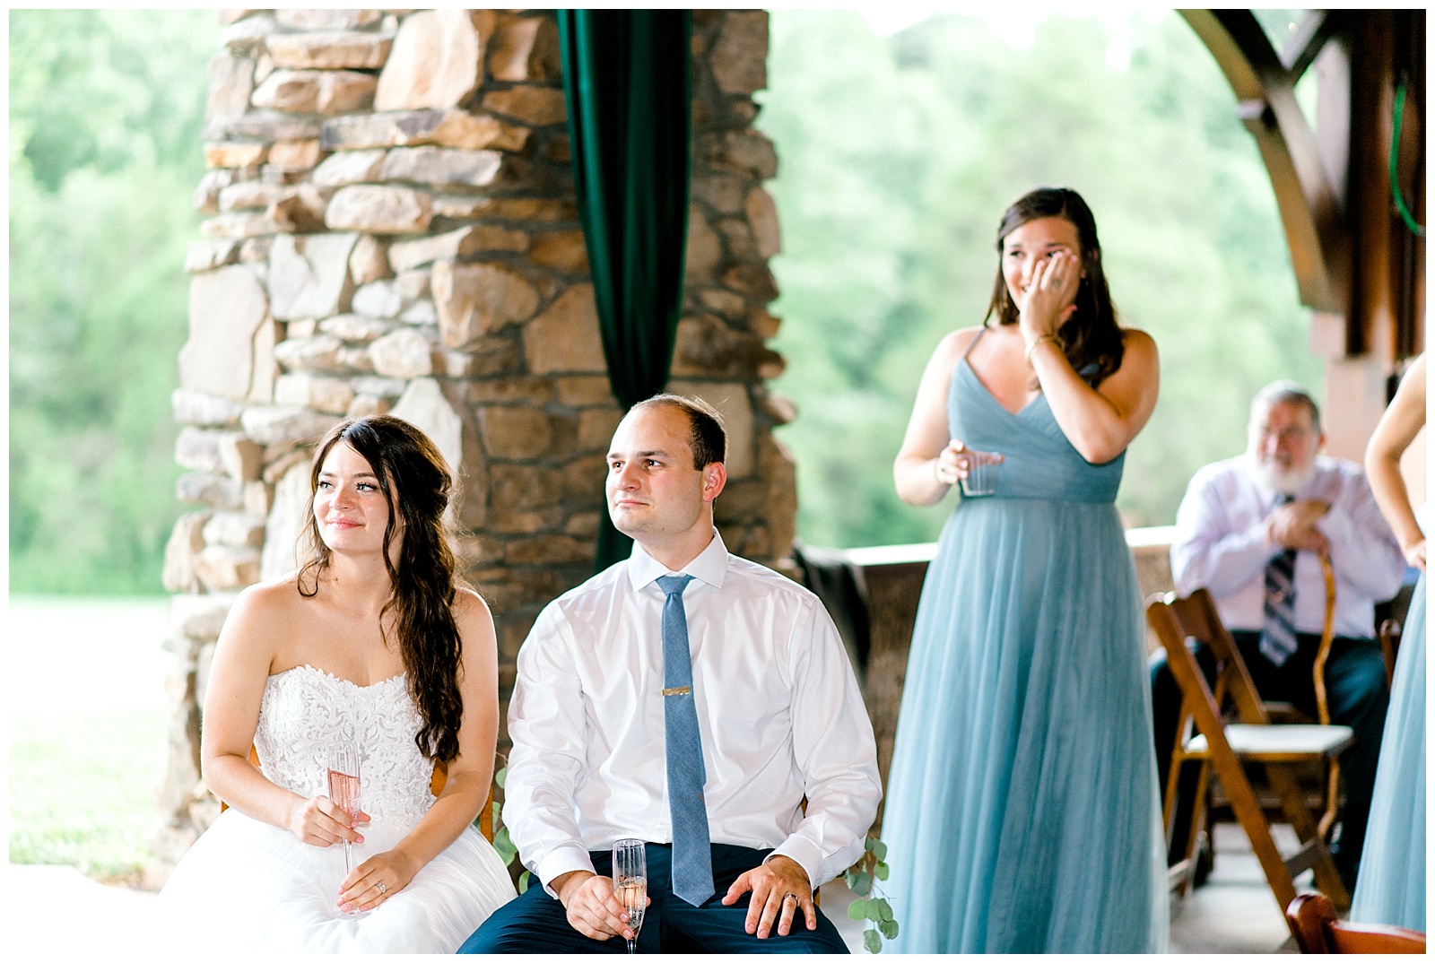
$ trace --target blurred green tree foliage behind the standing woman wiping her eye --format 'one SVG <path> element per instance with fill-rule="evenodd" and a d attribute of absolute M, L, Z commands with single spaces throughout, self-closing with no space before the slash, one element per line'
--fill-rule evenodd
<path fill-rule="evenodd" d="M 891 462 L 937 340 L 979 324 L 1002 211 L 1079 189 L 1125 324 L 1161 349 L 1161 400 L 1118 505 L 1168 524 L 1191 474 L 1244 446 L 1250 396 L 1320 387 L 1270 181 L 1210 53 L 1175 14 L 1122 40 L 1053 16 L 1026 49 L 933 16 L 878 37 L 851 11 L 772 14 L 769 90 L 784 253 L 778 390 L 799 416 L 799 532 L 829 545 L 934 538 L 950 511 L 893 489 Z M 1114 63 L 1115 62 L 1115 63 Z"/>

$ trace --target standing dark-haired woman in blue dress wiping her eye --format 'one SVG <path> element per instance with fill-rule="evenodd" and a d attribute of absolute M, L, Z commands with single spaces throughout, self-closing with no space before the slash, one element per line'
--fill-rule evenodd
<path fill-rule="evenodd" d="M 1075 191 L 1007 208 L 987 319 L 941 339 L 893 468 L 931 505 L 1003 456 L 927 570 L 887 791 L 908 953 L 1141 953 L 1167 943 L 1145 634 L 1115 509 L 1157 403 Z M 997 323 L 990 324 L 992 316 Z"/>

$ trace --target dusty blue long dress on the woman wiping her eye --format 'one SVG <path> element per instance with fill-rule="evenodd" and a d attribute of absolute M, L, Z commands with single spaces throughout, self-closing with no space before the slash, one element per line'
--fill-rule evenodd
<path fill-rule="evenodd" d="M 1161 952 L 1145 636 L 1114 504 L 1124 455 L 1088 464 L 1045 393 L 1012 415 L 966 359 L 947 416 L 953 438 L 1006 461 L 994 495 L 957 504 L 921 591 L 881 830 L 893 949 Z"/>

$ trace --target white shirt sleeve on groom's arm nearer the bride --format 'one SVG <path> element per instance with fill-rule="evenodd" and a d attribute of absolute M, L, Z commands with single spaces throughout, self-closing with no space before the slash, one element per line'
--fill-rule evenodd
<path fill-rule="evenodd" d="M 504 824 L 524 865 L 554 897 L 554 878 L 593 871 L 574 807 L 587 753 L 583 686 L 564 654 L 571 642 L 561 610 L 550 604 L 518 652 L 508 706 L 514 748 L 504 784 Z"/>

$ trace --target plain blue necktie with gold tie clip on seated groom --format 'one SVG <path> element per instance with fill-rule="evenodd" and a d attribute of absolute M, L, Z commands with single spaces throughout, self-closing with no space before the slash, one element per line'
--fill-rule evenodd
<path fill-rule="evenodd" d="M 662 576 L 663 722 L 667 739 L 667 812 L 673 822 L 673 893 L 702 906 L 713 896 L 713 854 L 703 802 L 703 741 L 693 702 L 693 656 L 687 649 L 683 588 L 692 576 Z"/>

